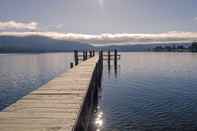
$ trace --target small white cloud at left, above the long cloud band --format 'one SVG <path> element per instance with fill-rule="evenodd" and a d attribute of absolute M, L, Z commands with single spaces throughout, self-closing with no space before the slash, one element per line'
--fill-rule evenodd
<path fill-rule="evenodd" d="M 38 23 L 36 22 L 0 21 L 0 30 L 7 30 L 7 29 L 36 30 L 37 28 L 38 28 Z"/>

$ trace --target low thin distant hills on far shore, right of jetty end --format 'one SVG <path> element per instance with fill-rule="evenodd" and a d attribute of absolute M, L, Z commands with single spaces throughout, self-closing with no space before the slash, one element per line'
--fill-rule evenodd
<path fill-rule="evenodd" d="M 129 51 L 153 51 L 154 48 L 158 46 L 183 46 L 185 48 L 188 48 L 191 46 L 191 43 L 147 43 L 147 44 L 136 44 L 136 45 L 131 45 L 131 44 L 126 44 L 126 45 L 109 45 L 109 46 L 97 46 L 97 49 L 100 50 L 114 50 L 117 49 L 118 51 L 123 51 L 123 52 L 129 52 Z"/>

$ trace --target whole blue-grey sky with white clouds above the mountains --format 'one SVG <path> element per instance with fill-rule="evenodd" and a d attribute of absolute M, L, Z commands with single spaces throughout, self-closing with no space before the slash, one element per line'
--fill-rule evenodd
<path fill-rule="evenodd" d="M 197 0 L 0 0 L 0 35 L 96 43 L 197 40 Z"/>

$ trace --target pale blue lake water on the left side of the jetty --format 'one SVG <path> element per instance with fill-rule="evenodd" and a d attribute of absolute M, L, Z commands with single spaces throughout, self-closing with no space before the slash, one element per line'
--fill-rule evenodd
<path fill-rule="evenodd" d="M 72 53 L 0 54 L 0 110 L 69 68 Z"/>

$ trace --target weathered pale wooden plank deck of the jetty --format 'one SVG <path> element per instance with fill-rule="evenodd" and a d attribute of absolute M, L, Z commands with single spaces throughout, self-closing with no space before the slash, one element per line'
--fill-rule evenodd
<path fill-rule="evenodd" d="M 94 56 L 0 112 L 0 131 L 72 131 L 98 62 Z"/>

